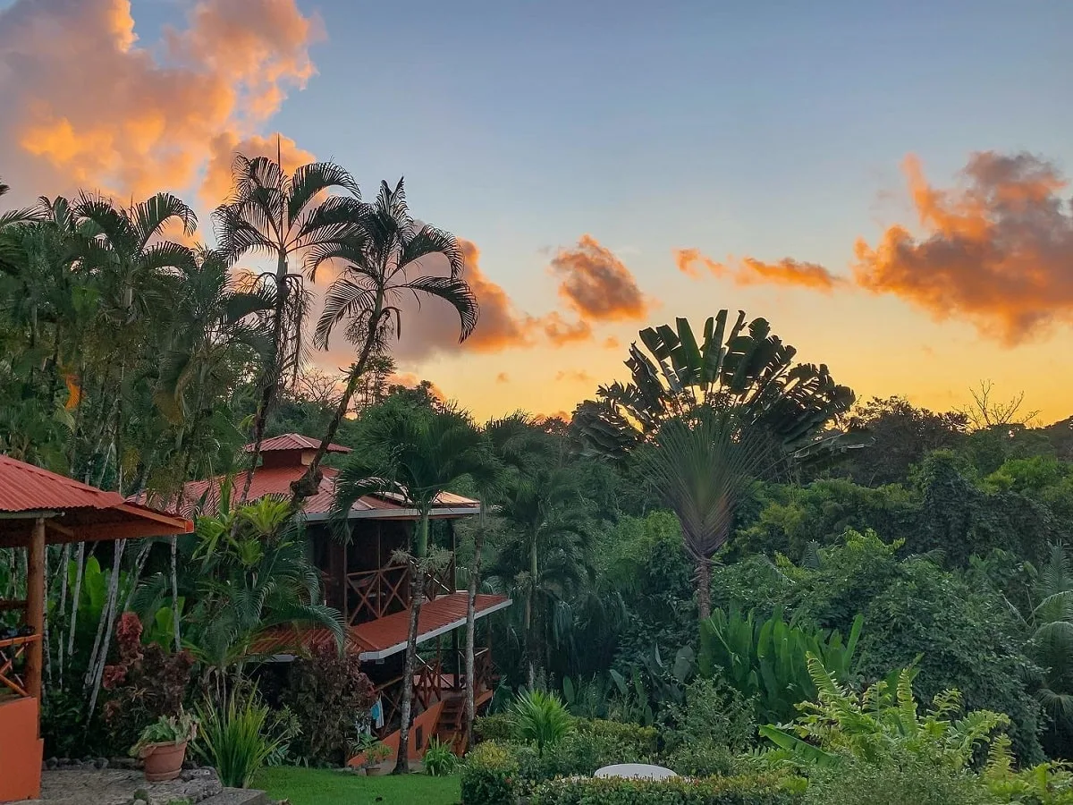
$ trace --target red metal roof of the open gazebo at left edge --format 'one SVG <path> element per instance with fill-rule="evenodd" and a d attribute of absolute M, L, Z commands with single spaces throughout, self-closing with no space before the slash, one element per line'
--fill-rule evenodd
<path fill-rule="evenodd" d="M 38 517 L 46 541 L 92 542 L 189 533 L 193 523 L 32 464 L 0 455 L 0 547 L 27 544 Z"/>

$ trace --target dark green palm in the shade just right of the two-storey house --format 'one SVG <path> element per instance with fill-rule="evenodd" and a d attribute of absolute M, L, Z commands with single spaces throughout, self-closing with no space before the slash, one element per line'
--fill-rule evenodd
<path fill-rule="evenodd" d="M 591 507 L 578 486 L 579 479 L 569 467 L 538 466 L 506 484 L 496 509 L 505 526 L 496 575 L 500 580 L 513 576 L 515 588 L 525 597 L 523 631 L 530 688 L 542 664 L 540 633 L 546 640 L 548 629 L 553 636 L 569 631 L 567 621 L 573 621 L 570 601 L 589 582 Z"/>

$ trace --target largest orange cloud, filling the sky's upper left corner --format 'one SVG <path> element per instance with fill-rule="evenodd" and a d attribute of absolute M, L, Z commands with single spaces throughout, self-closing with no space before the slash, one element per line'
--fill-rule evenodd
<path fill-rule="evenodd" d="M 137 39 L 130 0 L 16 0 L 0 11 L 0 152 L 21 196 L 193 189 L 313 73 L 320 23 L 295 0 L 200 0 Z M 13 69 L 14 68 L 14 69 Z"/>

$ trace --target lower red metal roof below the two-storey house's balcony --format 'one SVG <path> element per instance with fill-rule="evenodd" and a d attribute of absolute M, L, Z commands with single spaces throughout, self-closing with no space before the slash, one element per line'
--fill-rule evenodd
<path fill-rule="evenodd" d="M 417 642 L 435 638 L 438 633 L 453 631 L 466 623 L 465 591 L 440 596 L 421 608 L 417 623 Z M 483 617 L 493 610 L 510 605 L 506 596 L 477 596 L 474 602 L 476 617 Z M 410 628 L 408 610 L 394 615 L 352 626 L 347 630 L 347 652 L 350 654 L 376 655 L 367 659 L 382 659 L 401 652 L 406 647 Z M 254 642 L 251 652 L 258 655 L 305 654 L 313 647 L 334 645 L 335 639 L 324 628 L 304 629 L 283 626 L 270 629 Z"/>

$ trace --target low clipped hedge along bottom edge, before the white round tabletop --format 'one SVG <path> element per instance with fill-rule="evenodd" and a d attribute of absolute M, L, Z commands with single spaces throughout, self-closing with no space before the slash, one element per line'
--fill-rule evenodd
<path fill-rule="evenodd" d="M 573 778 L 549 780 L 530 805 L 793 805 L 804 780 L 761 775 L 667 780 Z M 907 801 L 909 802 L 909 801 Z"/>

